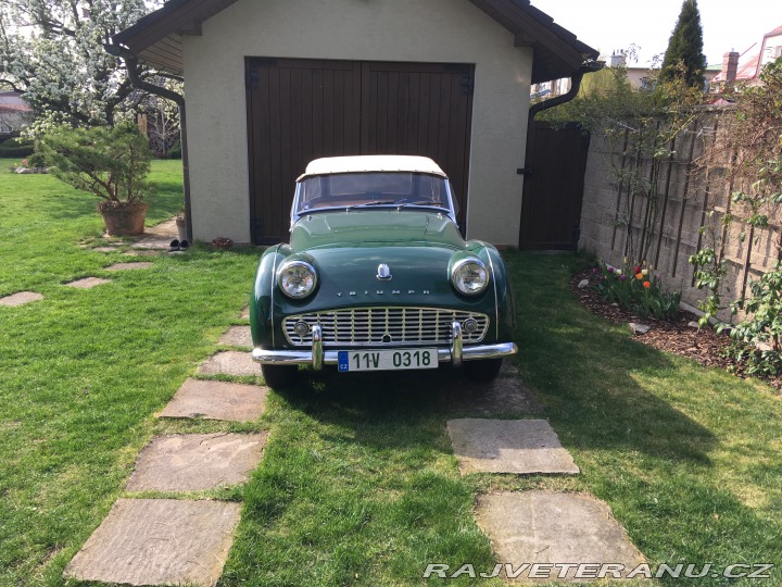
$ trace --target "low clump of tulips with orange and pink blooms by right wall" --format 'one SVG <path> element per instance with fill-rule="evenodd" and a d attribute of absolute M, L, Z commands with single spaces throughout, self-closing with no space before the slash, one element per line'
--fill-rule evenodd
<path fill-rule="evenodd" d="M 605 263 L 592 270 L 592 284 L 606 301 L 616 302 L 642 319 L 674 319 L 679 313 L 681 294 L 663 291 L 661 280 L 652 267 L 628 263 L 614 267 Z"/>

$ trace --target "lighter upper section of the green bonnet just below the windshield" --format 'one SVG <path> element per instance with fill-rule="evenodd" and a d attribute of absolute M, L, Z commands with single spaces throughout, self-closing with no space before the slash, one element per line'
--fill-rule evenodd
<path fill-rule="evenodd" d="M 456 225 L 442 214 L 404 210 L 352 210 L 304 216 L 291 230 L 290 247 L 301 252 L 318 247 L 366 247 L 379 242 L 414 242 L 464 248 Z"/>

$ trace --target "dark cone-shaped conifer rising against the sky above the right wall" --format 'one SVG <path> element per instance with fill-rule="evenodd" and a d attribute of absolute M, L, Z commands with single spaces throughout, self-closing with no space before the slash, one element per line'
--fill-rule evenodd
<path fill-rule="evenodd" d="M 660 79 L 683 78 L 688 86 L 703 88 L 706 57 L 703 53 L 703 27 L 697 0 L 684 0 L 668 49 L 663 59 Z"/>

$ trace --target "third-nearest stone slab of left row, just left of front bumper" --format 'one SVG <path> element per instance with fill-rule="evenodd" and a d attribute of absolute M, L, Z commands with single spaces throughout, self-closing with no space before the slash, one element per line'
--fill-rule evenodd
<path fill-rule="evenodd" d="M 267 395 L 267 387 L 256 385 L 188 379 L 159 416 L 253 422 L 263 414 Z"/>

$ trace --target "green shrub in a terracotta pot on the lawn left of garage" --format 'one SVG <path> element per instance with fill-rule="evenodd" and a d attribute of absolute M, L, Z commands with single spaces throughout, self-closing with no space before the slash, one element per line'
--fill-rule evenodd
<path fill-rule="evenodd" d="M 101 199 L 108 235 L 143 233 L 152 152 L 135 125 L 62 127 L 40 140 L 40 151 L 55 177 Z"/>

